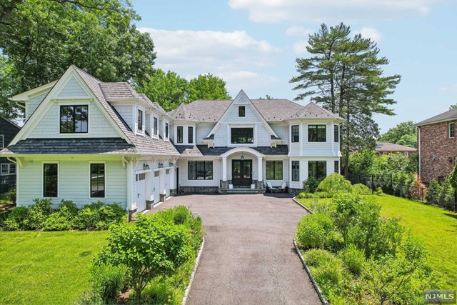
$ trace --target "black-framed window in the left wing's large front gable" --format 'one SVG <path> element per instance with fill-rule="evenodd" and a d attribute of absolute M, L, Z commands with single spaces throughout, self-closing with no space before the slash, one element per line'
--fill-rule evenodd
<path fill-rule="evenodd" d="M 60 106 L 61 134 L 86 133 L 89 125 L 89 106 Z"/>

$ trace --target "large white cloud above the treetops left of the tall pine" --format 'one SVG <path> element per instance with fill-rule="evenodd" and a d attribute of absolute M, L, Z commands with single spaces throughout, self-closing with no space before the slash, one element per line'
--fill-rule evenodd
<path fill-rule="evenodd" d="M 282 50 L 265 40 L 253 39 L 246 31 L 169 31 L 140 28 L 154 41 L 156 67 L 176 71 L 191 79 L 211 73 L 226 81 L 231 94 L 240 89 L 258 89 L 277 79 L 259 73 L 275 64 Z"/>

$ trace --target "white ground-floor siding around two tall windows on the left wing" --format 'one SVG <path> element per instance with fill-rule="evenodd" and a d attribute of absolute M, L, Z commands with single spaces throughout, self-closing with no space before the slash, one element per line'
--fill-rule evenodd
<path fill-rule="evenodd" d="M 29 206 L 34 204 L 34 199 L 43 197 L 43 163 L 46 161 L 34 159 L 25 161 L 23 168 L 18 167 L 19 206 Z M 59 161 L 59 197 L 52 199 L 54 207 L 62 199 L 73 200 L 80 207 L 99 200 L 109 204 L 117 202 L 126 207 L 126 169 L 122 166 L 121 159 L 106 161 L 105 199 L 91 198 L 89 183 L 89 160 Z"/>

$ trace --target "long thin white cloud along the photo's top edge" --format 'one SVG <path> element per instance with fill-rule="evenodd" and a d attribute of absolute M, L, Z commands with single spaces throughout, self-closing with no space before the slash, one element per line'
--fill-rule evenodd
<path fill-rule="evenodd" d="M 255 22 L 323 22 L 393 19 L 423 16 L 441 0 L 229 0 L 232 9 L 245 9 Z"/>

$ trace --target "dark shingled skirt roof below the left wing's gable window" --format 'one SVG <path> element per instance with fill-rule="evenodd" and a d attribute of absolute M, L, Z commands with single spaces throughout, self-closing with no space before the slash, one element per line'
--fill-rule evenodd
<path fill-rule="evenodd" d="M 25 139 L 1 154 L 133 154 L 135 147 L 122 138 Z"/>

